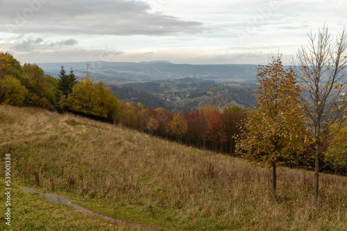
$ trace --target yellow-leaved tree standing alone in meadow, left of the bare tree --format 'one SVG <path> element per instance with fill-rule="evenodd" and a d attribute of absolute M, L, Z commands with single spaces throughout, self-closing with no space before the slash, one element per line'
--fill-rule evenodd
<path fill-rule="evenodd" d="M 303 129 L 298 113 L 301 88 L 293 69 L 284 70 L 280 56 L 271 57 L 269 64 L 258 68 L 257 82 L 257 106 L 236 137 L 236 149 L 254 165 L 272 168 L 275 195 L 276 168 L 296 162 L 302 150 L 293 133 Z"/>

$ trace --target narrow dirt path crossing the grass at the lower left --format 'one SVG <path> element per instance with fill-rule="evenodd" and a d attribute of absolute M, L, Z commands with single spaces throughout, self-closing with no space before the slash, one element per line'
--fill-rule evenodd
<path fill-rule="evenodd" d="M 29 192 L 31 194 L 38 194 L 40 197 L 44 198 L 44 200 L 52 202 L 52 203 L 56 203 L 58 205 L 68 205 L 70 207 L 73 207 L 75 210 L 78 210 L 78 212 L 83 212 L 84 214 L 87 214 L 89 216 L 93 216 L 93 217 L 98 217 L 101 219 L 104 219 L 106 221 L 110 221 L 110 222 L 114 222 L 117 224 L 122 224 L 122 225 L 130 225 L 130 226 L 134 226 L 137 228 L 144 228 L 146 230 L 155 230 L 149 226 L 146 225 L 141 225 L 141 224 L 137 224 L 137 223 L 128 223 L 126 221 L 120 220 L 120 219 L 116 219 L 114 217 L 111 216 L 105 216 L 103 214 L 99 214 L 96 212 L 93 212 L 92 210 L 88 210 L 85 207 L 82 207 L 80 205 L 76 205 L 75 203 L 72 203 L 71 201 L 69 201 L 67 198 L 65 198 L 64 196 L 59 196 L 56 194 L 43 194 L 38 192 L 37 190 L 33 190 L 30 187 L 21 187 L 19 186 L 19 188 L 25 192 Z"/>

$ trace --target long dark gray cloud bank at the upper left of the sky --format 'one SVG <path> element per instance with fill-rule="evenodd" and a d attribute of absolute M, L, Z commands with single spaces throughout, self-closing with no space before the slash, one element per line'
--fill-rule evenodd
<path fill-rule="evenodd" d="M 205 30 L 201 22 L 151 12 L 149 3 L 142 1 L 19 0 L 3 4 L 0 26 L 12 33 L 173 35 Z"/>

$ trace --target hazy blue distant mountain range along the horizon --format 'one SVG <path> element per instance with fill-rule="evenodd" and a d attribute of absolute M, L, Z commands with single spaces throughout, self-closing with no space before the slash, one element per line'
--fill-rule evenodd
<path fill-rule="evenodd" d="M 254 82 L 257 74 L 256 65 L 214 64 L 193 65 L 173 64 L 167 61 L 154 62 L 62 62 L 40 63 L 46 74 L 58 77 L 61 66 L 69 72 L 74 69 L 78 77 L 86 73 L 90 64 L 90 75 L 94 80 L 103 80 L 106 84 L 124 84 L 128 82 L 146 82 L 154 80 L 172 80 L 195 77 L 217 82 Z"/>

